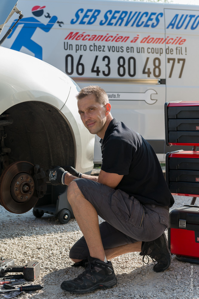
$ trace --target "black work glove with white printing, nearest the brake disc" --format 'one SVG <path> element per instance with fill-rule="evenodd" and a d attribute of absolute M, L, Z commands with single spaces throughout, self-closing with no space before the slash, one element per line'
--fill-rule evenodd
<path fill-rule="evenodd" d="M 61 168 L 60 166 L 52 166 L 53 168 L 46 170 L 46 176 L 47 176 L 47 183 L 50 183 L 54 186 L 56 185 L 65 185 L 64 178 L 68 171 L 65 171 L 64 168 Z"/>

